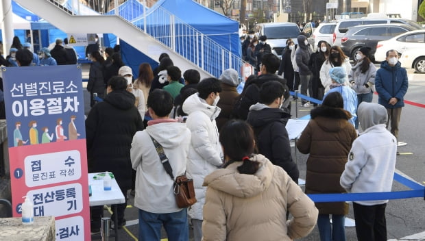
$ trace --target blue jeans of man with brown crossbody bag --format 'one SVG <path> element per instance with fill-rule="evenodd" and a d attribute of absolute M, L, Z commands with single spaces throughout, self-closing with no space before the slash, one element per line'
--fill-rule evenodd
<path fill-rule="evenodd" d="M 138 240 L 160 241 L 162 225 L 164 225 L 169 241 L 189 240 L 186 208 L 169 214 L 154 214 L 138 210 Z"/>

